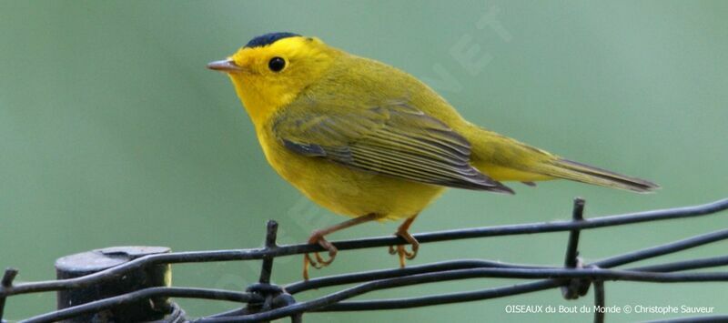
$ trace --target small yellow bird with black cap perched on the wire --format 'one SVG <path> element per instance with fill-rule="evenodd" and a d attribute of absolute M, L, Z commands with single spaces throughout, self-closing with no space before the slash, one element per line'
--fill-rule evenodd
<path fill-rule="evenodd" d="M 336 257 L 326 235 L 373 220 L 405 219 L 396 235 L 411 252 L 389 248 L 404 266 L 419 248 L 412 221 L 446 187 L 513 194 L 501 182 L 555 178 L 635 192 L 658 187 L 473 125 L 414 76 L 316 37 L 260 35 L 207 67 L 232 80 L 270 166 L 320 206 L 352 217 L 313 231 L 308 242 L 329 259 L 307 254 L 307 279 L 309 264 Z"/>

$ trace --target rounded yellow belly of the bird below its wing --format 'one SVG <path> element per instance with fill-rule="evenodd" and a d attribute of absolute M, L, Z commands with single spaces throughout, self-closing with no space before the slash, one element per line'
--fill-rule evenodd
<path fill-rule="evenodd" d="M 382 219 L 412 217 L 439 197 L 444 187 L 381 176 L 320 157 L 300 156 L 258 132 L 268 163 L 305 196 L 348 217 L 378 214 Z"/>

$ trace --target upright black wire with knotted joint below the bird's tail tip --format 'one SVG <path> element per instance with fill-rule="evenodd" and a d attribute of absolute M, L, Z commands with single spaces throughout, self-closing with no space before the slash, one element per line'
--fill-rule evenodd
<path fill-rule="evenodd" d="M 584 220 L 584 205 L 586 202 L 581 197 L 574 198 L 573 209 L 571 210 L 571 220 L 580 222 Z M 599 269 L 596 265 L 584 266 L 584 262 L 579 257 L 579 235 L 580 229 L 573 229 L 569 232 L 569 243 L 566 246 L 566 256 L 564 257 L 563 266 L 569 269 Z M 576 299 L 585 296 L 589 292 L 591 283 L 594 284 L 594 307 L 604 308 L 604 282 L 601 279 L 591 278 L 570 278 L 566 279 L 561 286 L 561 296 L 565 299 Z M 594 310 L 594 322 L 604 322 L 604 312 Z"/>

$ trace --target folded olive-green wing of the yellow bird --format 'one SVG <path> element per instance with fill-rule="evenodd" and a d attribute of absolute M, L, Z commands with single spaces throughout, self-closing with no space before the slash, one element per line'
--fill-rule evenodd
<path fill-rule="evenodd" d="M 470 143 L 402 103 L 370 108 L 295 102 L 273 126 L 288 149 L 377 174 L 444 187 L 513 193 L 470 166 Z"/>

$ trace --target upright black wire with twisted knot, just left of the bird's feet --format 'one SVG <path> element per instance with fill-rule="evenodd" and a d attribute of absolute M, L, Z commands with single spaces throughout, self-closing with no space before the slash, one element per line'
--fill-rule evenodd
<path fill-rule="evenodd" d="M 269 220 L 266 232 L 266 248 L 275 249 L 278 248 L 276 244 L 276 238 L 278 237 L 278 222 Z M 228 313 L 231 315 L 248 315 L 259 312 L 266 312 L 274 308 L 283 308 L 296 303 L 296 299 L 293 298 L 285 289 L 278 285 L 270 283 L 270 275 L 273 271 L 273 259 L 274 257 L 263 257 L 263 265 L 260 270 L 260 278 L 258 283 L 249 286 L 246 292 L 256 294 L 263 299 L 262 302 L 250 302 L 246 308 L 238 310 L 235 313 Z M 303 314 L 293 314 L 290 317 L 292 323 L 299 323 L 303 321 Z"/>

